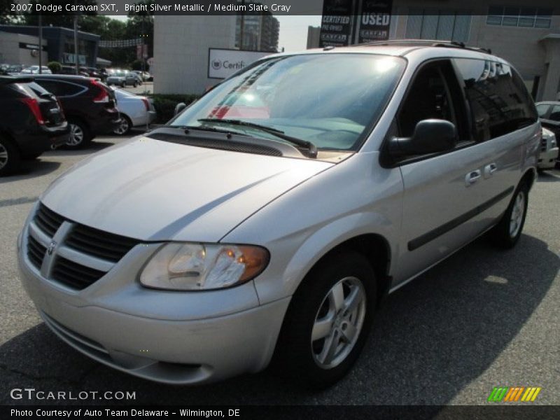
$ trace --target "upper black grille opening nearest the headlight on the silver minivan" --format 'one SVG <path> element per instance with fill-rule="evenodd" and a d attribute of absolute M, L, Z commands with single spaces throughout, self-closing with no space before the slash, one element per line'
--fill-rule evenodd
<path fill-rule="evenodd" d="M 65 243 L 76 251 L 111 262 L 118 262 L 138 244 L 138 241 L 84 225 L 76 225 L 70 232 L 69 237 L 66 238 Z"/>

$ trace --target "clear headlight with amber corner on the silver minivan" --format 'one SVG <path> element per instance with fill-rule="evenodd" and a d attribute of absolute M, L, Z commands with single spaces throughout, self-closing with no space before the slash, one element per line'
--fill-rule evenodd
<path fill-rule="evenodd" d="M 140 283 L 169 290 L 226 288 L 255 278 L 268 260 L 260 246 L 170 243 L 152 256 Z"/>

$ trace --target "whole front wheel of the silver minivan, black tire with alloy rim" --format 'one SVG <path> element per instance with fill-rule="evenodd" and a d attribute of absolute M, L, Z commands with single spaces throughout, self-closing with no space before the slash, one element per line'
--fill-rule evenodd
<path fill-rule="evenodd" d="M 354 251 L 329 255 L 293 295 L 273 368 L 313 388 L 335 384 L 363 349 L 376 295 L 375 274 L 363 255 Z"/>

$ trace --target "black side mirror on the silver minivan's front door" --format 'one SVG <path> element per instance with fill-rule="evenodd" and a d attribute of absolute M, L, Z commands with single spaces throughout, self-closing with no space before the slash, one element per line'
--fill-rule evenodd
<path fill-rule="evenodd" d="M 412 137 L 393 137 L 389 153 L 395 157 L 450 151 L 457 144 L 457 129 L 447 120 L 421 120 Z"/>

